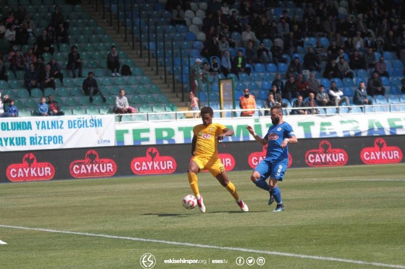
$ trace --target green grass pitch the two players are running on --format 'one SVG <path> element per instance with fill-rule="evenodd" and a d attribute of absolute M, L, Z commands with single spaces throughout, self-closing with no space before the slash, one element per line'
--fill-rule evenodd
<path fill-rule="evenodd" d="M 0 240 L 8 244 L 0 245 L 0 267 L 142 268 L 151 253 L 154 268 L 405 268 L 405 164 L 290 169 L 279 184 L 281 213 L 250 174 L 228 173 L 247 213 L 208 173 L 198 175 L 205 214 L 181 204 L 191 193 L 186 174 L 2 184 Z M 236 264 L 260 256 L 263 266 Z"/>

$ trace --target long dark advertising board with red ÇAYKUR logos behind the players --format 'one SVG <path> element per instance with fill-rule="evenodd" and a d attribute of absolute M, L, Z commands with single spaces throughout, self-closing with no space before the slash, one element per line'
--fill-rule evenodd
<path fill-rule="evenodd" d="M 289 145 L 289 167 L 403 163 L 405 135 L 301 139 Z M 165 175 L 187 172 L 190 144 L 3 152 L 0 182 Z M 227 171 L 252 170 L 265 156 L 257 142 L 220 142 Z"/>

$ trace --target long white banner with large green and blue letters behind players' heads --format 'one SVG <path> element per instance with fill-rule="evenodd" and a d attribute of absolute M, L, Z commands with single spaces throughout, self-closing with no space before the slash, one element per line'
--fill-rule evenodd
<path fill-rule="evenodd" d="M 405 134 L 405 113 L 285 116 L 298 138 L 331 138 Z M 224 141 L 253 140 L 246 126 L 261 136 L 271 126 L 270 117 L 214 119 L 234 135 Z M 159 145 L 191 143 L 192 130 L 200 119 L 116 124 L 116 145 Z"/>

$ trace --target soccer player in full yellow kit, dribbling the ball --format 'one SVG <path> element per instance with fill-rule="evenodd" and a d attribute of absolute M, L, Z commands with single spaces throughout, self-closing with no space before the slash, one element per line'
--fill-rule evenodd
<path fill-rule="evenodd" d="M 198 208 L 201 212 L 206 211 L 203 196 L 199 194 L 197 173 L 208 170 L 233 196 L 242 211 L 249 211 L 248 206 L 236 191 L 235 185 L 229 181 L 221 160 L 218 156 L 218 141 L 225 136 L 233 135 L 233 131 L 219 123 L 212 123 L 214 112 L 211 107 L 205 106 L 200 111 L 203 124 L 194 126 L 193 139 L 191 142 L 191 154 L 193 157 L 188 165 L 188 182 L 191 190 L 197 198 Z"/>

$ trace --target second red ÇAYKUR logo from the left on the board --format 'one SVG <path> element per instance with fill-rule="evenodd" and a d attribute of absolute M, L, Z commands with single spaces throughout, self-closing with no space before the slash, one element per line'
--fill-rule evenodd
<path fill-rule="evenodd" d="M 112 159 L 99 158 L 97 151 L 91 149 L 85 159 L 74 160 L 69 171 L 74 178 L 111 177 L 117 172 L 117 165 Z"/>

